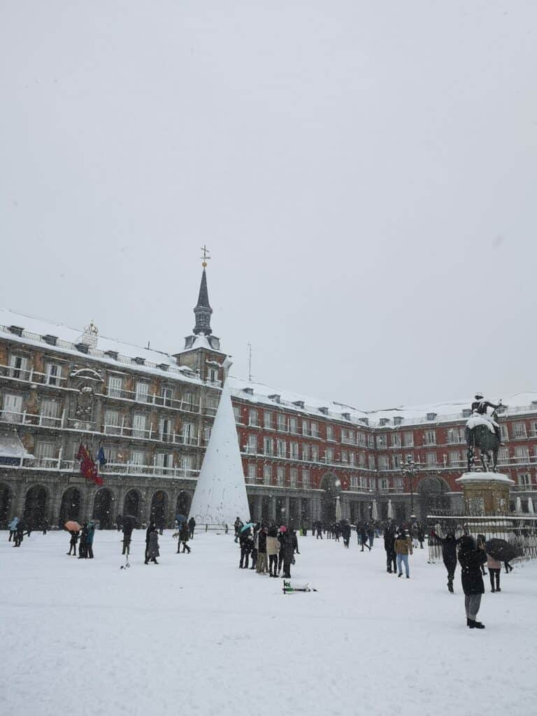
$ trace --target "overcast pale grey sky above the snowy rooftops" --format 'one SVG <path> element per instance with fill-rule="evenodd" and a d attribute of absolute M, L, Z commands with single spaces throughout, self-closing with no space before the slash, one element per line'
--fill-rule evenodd
<path fill-rule="evenodd" d="M 533 0 L 2 0 L 0 304 L 370 409 L 537 389 Z"/>

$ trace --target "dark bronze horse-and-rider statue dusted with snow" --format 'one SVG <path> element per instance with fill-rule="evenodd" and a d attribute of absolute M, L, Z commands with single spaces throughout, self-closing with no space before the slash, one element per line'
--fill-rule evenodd
<path fill-rule="evenodd" d="M 466 423 L 465 437 L 468 445 L 468 472 L 475 466 L 475 448 L 479 448 L 479 455 L 483 470 L 497 472 L 498 450 L 501 445 L 500 426 L 498 425 L 496 410 L 502 402 L 495 405 L 485 400 L 483 393 L 476 393 L 472 403 L 472 417 Z M 489 412 L 489 409 L 491 412 Z"/>

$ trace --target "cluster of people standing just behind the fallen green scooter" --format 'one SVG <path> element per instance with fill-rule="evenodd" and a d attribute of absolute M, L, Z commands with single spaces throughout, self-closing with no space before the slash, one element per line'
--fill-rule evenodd
<path fill-rule="evenodd" d="M 241 547 L 239 569 L 255 569 L 257 574 L 269 574 L 271 577 L 291 578 L 291 564 L 295 563 L 295 553 L 299 554 L 299 541 L 294 529 L 274 523 L 243 525 L 239 518 L 235 521 L 235 541 Z M 248 566 L 251 559 L 251 566 Z M 283 575 L 281 574 L 283 570 Z"/>

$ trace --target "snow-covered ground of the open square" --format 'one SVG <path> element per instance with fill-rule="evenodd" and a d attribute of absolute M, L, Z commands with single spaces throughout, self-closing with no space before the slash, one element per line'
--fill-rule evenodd
<path fill-rule="evenodd" d="M 534 713 L 537 565 L 485 582 L 483 631 L 465 626 L 460 573 L 410 558 L 387 574 L 382 541 L 361 553 L 301 538 L 291 571 L 319 591 L 238 569 L 231 535 L 196 534 L 192 553 L 160 538 L 145 566 L 135 532 L 97 532 L 95 559 L 67 557 L 67 533 L 0 533 L 2 713 L 242 713 L 434 716 Z M 485 579 L 488 579 L 485 578 Z"/>

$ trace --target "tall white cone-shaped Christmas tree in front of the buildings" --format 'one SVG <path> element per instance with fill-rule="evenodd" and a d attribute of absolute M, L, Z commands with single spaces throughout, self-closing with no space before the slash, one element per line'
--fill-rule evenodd
<path fill-rule="evenodd" d="M 228 365 L 226 365 L 228 368 Z M 190 517 L 197 523 L 233 525 L 247 521 L 250 508 L 228 382 L 223 384 L 213 430 L 195 486 Z"/>

